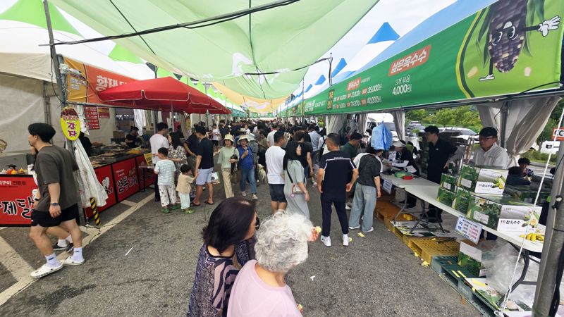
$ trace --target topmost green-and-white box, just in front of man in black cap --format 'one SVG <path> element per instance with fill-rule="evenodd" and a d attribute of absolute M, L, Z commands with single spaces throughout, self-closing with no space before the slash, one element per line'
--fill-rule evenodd
<path fill-rule="evenodd" d="M 501 195 L 505 188 L 508 170 L 489 166 L 464 165 L 460 170 L 458 187 L 474 194 Z"/>

